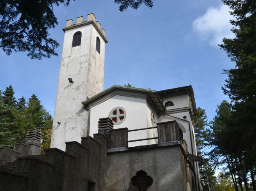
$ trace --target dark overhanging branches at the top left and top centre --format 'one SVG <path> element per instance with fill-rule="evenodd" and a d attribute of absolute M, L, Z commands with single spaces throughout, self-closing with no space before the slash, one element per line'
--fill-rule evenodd
<path fill-rule="evenodd" d="M 31 59 L 57 56 L 59 43 L 50 38 L 49 30 L 58 25 L 54 6 L 69 5 L 72 0 L 1 0 L 0 48 L 7 55 L 27 52 Z M 153 0 L 115 0 L 122 12 L 144 4 L 152 8 Z"/>

